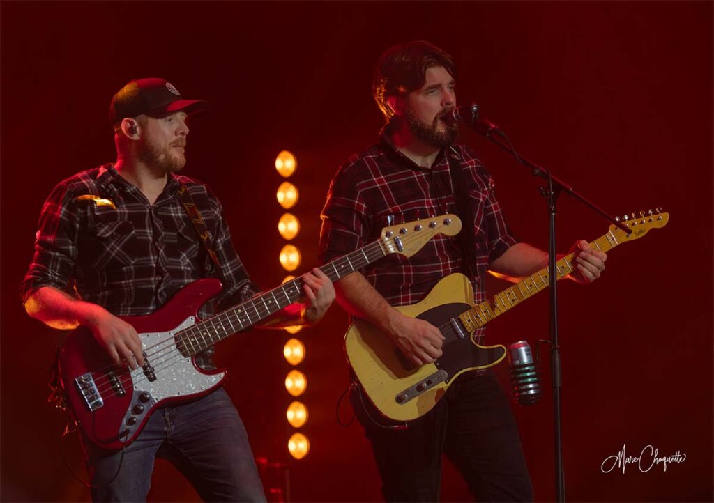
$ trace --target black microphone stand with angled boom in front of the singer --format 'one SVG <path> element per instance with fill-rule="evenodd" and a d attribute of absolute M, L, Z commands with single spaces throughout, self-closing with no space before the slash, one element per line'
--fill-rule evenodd
<path fill-rule="evenodd" d="M 540 178 L 545 179 L 545 186 L 540 188 L 540 194 L 543 195 L 548 205 L 550 226 L 548 238 L 548 290 L 550 292 L 550 377 L 553 382 L 553 432 L 555 436 L 555 501 L 564 502 L 565 482 L 563 479 L 563 444 L 561 441 L 562 431 L 560 424 L 560 387 L 562 387 L 563 375 L 560 368 L 560 343 L 558 340 L 558 288 L 556 286 L 558 283 L 558 269 L 555 266 L 555 203 L 558 200 L 558 195 L 560 195 L 561 192 L 570 194 L 573 198 L 579 200 L 595 213 L 605 218 L 605 220 L 608 220 L 608 222 L 624 230 L 625 233 L 630 234 L 632 229 L 625 227 L 625 225 L 618 220 L 615 220 L 615 218 L 608 215 L 608 213 L 598 208 L 595 203 L 590 202 L 590 200 L 576 192 L 567 183 L 563 183 L 563 181 L 551 175 L 547 169 L 518 155 L 516 149 L 513 148 L 511 140 L 501 131 L 501 128 L 498 128 L 496 124 L 490 121 L 478 118 L 478 106 L 472 104 L 468 113 L 470 113 L 471 117 L 456 116 L 456 118 L 474 128 L 478 134 L 492 143 L 495 143 L 496 146 L 511 153 L 523 166 L 531 168 L 533 176 L 540 176 Z M 504 138 L 508 144 L 503 143 L 501 138 Z M 550 279 L 550 276 L 553 276 L 553 271 L 555 271 L 555 280 Z"/>

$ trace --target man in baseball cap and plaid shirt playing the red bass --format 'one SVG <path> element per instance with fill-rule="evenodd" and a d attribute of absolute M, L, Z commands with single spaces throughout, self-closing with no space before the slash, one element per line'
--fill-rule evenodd
<path fill-rule="evenodd" d="M 141 336 L 121 317 L 150 315 L 201 278 L 223 283 L 214 302 L 199 310 L 202 318 L 260 290 L 233 248 L 216 195 L 177 174 L 186 164 L 187 118 L 207 108 L 205 101 L 183 99 L 161 78 L 121 88 L 109 110 L 116 162 L 54 188 L 21 285 L 29 315 L 51 327 L 86 327 L 94 336 L 91 350 L 106 351 L 119 375 L 142 367 L 149 380 L 156 372 L 154 387 L 166 385 L 161 368 L 149 361 L 150 348 L 142 347 Z M 192 220 L 203 221 L 203 232 Z M 313 273 L 303 276 L 306 303 L 281 310 L 271 325 L 313 323 L 323 316 L 335 294 L 320 270 Z M 214 370 L 212 355 L 213 347 L 198 352 L 196 365 Z M 178 390 L 182 385 L 173 384 Z M 144 399 L 146 407 L 154 403 L 148 394 Z M 206 501 L 265 500 L 246 431 L 223 387 L 159 404 L 141 420 L 146 422 L 138 436 L 118 450 L 93 442 L 83 430 L 87 425 L 80 425 L 94 501 L 146 501 L 156 456 L 174 463 Z"/>

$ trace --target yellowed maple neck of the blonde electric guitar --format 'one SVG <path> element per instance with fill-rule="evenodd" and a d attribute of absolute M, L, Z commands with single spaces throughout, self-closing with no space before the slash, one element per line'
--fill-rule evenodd
<path fill-rule="evenodd" d="M 590 243 L 590 246 L 597 250 L 608 252 L 615 248 L 615 246 L 624 243 L 627 239 L 627 233 L 625 233 L 625 231 L 615 228 L 615 230 L 610 230 L 607 234 L 594 240 Z M 575 265 L 573 264 L 574 258 L 575 255 L 570 253 L 555 263 L 558 280 L 562 280 L 575 270 Z M 473 332 L 477 328 L 486 325 L 486 323 L 493 320 L 493 318 L 506 313 L 506 311 L 515 308 L 524 300 L 545 290 L 548 285 L 550 285 L 550 268 L 546 267 L 523 278 L 523 280 L 511 288 L 506 288 L 506 290 L 497 293 L 490 300 L 486 300 L 464 311 L 459 315 L 459 318 L 466 329 L 469 332 Z"/>

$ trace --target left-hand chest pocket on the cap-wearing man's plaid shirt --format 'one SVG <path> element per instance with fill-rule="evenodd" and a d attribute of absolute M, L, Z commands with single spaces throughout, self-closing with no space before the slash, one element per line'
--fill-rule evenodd
<path fill-rule="evenodd" d="M 88 241 L 85 261 L 94 268 L 126 267 L 141 254 L 134 225 L 127 220 L 94 223 Z"/>

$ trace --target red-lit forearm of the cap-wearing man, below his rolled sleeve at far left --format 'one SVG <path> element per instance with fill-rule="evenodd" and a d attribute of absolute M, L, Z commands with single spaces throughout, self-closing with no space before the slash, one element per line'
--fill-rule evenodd
<path fill-rule="evenodd" d="M 50 327 L 69 330 L 79 325 L 91 325 L 99 310 L 104 311 L 104 308 L 74 298 L 57 288 L 44 286 L 30 295 L 25 302 L 25 310 Z"/>

